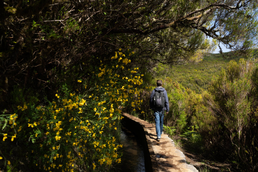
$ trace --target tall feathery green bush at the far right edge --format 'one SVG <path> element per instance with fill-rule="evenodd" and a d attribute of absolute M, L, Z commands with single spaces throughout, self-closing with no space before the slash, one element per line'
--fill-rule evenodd
<path fill-rule="evenodd" d="M 214 153 L 241 162 L 244 171 L 256 171 L 258 165 L 256 71 L 252 61 L 230 61 L 204 95 L 216 121 L 216 127 L 209 129 L 213 138 L 210 148 L 216 147 Z"/>

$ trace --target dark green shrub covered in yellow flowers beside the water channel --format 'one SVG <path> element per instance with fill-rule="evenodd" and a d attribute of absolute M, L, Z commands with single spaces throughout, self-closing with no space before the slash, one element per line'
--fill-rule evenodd
<path fill-rule="evenodd" d="M 120 50 L 121 51 L 121 50 Z M 27 171 L 103 171 L 120 163 L 117 131 L 121 108 L 135 108 L 137 85 L 142 84 L 138 68 L 115 52 L 107 63 L 101 61 L 91 80 L 78 78 L 77 88 L 67 85 L 56 91 L 55 100 L 36 105 L 24 102 L 0 116 L 0 168 Z M 134 52 L 127 52 L 128 55 Z M 123 76 L 122 76 L 123 75 Z"/>

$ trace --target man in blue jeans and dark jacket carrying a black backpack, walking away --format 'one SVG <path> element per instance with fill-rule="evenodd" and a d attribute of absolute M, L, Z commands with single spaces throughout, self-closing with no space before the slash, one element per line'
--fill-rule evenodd
<path fill-rule="evenodd" d="M 163 132 L 164 112 L 169 112 L 169 101 L 167 91 L 161 87 L 162 81 L 157 80 L 157 88 L 153 89 L 150 95 L 150 109 L 154 111 L 157 141 L 160 141 Z"/>

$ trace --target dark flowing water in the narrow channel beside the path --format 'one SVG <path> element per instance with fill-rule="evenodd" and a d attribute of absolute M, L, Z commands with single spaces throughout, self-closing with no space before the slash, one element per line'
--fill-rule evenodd
<path fill-rule="evenodd" d="M 126 128 L 122 128 L 120 141 L 123 144 L 121 163 L 116 165 L 114 172 L 145 172 L 144 152 L 142 144 Z"/>

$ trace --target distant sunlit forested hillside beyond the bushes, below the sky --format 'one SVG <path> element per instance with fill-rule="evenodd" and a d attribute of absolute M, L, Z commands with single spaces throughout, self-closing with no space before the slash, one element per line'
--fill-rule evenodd
<path fill-rule="evenodd" d="M 218 76 L 221 69 L 226 67 L 228 62 L 232 59 L 236 61 L 239 57 L 230 56 L 230 58 L 223 58 L 221 54 L 207 54 L 201 62 L 188 63 L 185 65 L 171 65 L 167 70 L 167 65 L 158 64 L 153 70 L 162 78 L 169 76 L 174 81 L 180 83 L 183 87 L 187 87 L 196 93 L 202 93 L 207 90 L 210 81 L 213 77 Z"/>

